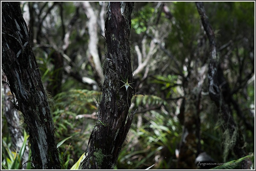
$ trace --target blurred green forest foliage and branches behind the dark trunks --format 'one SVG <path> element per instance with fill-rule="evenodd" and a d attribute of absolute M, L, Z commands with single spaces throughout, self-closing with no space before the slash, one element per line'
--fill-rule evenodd
<path fill-rule="evenodd" d="M 99 16 L 103 9 L 105 18 L 106 4 L 90 4 L 98 16 L 99 26 L 95 29 L 102 64 L 105 40 Z M 254 5 L 254 2 L 204 2 L 215 31 L 224 76 L 234 101 L 243 112 L 243 116 L 239 116 L 230 104 L 232 116 L 243 132 L 250 154 L 255 146 L 254 132 L 246 126 L 254 127 L 255 119 Z M 86 149 L 101 95 L 102 82 L 84 81 L 86 78 L 96 80 L 87 53 L 88 16 L 78 2 L 21 2 L 20 6 L 31 32 L 42 81 L 49 92 L 57 143 L 72 136 L 58 148 L 63 168 L 70 169 Z M 63 48 L 68 32 L 68 47 Z M 189 88 L 189 75 L 196 75 L 208 62 L 208 39 L 195 3 L 136 2 L 132 13 L 131 46 L 134 70 L 145 62 L 133 80 L 135 91 L 145 96 L 132 98 L 131 110 L 137 109 L 137 112 L 115 168 L 146 169 L 154 165 L 152 169 L 177 169 L 177 150 L 182 136 L 178 115 L 182 99 Z M 59 61 L 55 52 L 63 56 L 60 67 L 56 67 Z M 200 104 L 201 149 L 215 161 L 224 162 L 221 123 L 207 91 L 206 76 Z M 2 98 L 2 111 L 3 104 Z M 2 130 L 6 127 L 2 115 Z M 2 150 L 7 150 L 2 158 L 8 151 L 14 155 L 16 149 L 12 149 L 9 132 L 3 130 L 2 137 Z M 227 157 L 227 161 L 231 160 L 237 160 L 232 152 Z"/>

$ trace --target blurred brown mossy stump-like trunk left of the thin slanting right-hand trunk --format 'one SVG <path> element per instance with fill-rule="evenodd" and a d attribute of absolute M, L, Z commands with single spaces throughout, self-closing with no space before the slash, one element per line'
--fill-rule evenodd
<path fill-rule="evenodd" d="M 184 119 L 183 133 L 179 147 L 178 169 L 196 169 L 196 156 L 201 153 L 200 143 L 200 100 L 203 82 L 206 77 L 206 64 L 200 71 L 190 74 L 189 84 L 185 84 L 186 103 L 181 115 Z M 196 67 L 194 68 L 196 71 Z M 196 75 L 196 76 L 195 76 Z M 184 100 L 185 100 L 184 99 Z"/>

